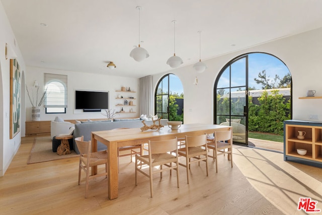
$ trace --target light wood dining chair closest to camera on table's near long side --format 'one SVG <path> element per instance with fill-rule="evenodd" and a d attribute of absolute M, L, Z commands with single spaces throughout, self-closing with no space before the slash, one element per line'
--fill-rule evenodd
<path fill-rule="evenodd" d="M 179 187 L 179 160 L 177 137 L 169 140 L 148 141 L 148 155 L 135 155 L 135 185 L 137 185 L 137 172 L 150 179 L 150 194 L 153 195 L 153 174 L 170 170 L 177 171 L 177 185 Z M 173 154 L 175 152 L 175 154 Z M 148 171 L 144 166 L 148 166 Z M 166 168 L 163 168 L 163 167 Z"/>

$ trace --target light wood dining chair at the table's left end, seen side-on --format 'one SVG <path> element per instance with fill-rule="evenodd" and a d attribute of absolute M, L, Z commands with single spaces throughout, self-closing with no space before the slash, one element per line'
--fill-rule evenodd
<path fill-rule="evenodd" d="M 96 177 L 105 176 L 107 178 L 107 151 L 91 153 L 91 141 L 84 141 L 84 136 L 76 137 L 75 142 L 80 153 L 78 168 L 78 185 L 81 183 L 82 170 L 86 173 L 86 190 L 85 198 L 87 198 L 89 180 Z M 90 175 L 90 167 L 105 164 L 105 173 Z"/>

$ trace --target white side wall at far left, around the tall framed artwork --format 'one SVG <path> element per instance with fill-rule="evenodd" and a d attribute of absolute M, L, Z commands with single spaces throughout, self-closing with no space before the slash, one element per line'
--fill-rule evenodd
<path fill-rule="evenodd" d="M 21 144 L 21 132 L 10 139 L 10 59 L 6 60 L 6 43 L 13 47 L 18 55 L 21 72 L 25 70 L 25 62 L 21 56 L 18 44 L 15 45 L 15 35 L 10 26 L 2 3 L 0 2 L 0 176 L 8 169 L 12 159 Z M 23 74 L 22 74 L 23 75 Z M 21 115 L 21 114 L 20 114 Z M 24 121 L 21 121 L 24 124 Z"/>

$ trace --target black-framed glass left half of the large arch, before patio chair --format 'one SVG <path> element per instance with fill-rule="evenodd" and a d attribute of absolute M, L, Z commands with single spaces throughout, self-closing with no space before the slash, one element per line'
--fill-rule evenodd
<path fill-rule="evenodd" d="M 229 63 L 215 83 L 215 124 L 232 126 L 233 142 L 248 144 L 248 56 Z"/>

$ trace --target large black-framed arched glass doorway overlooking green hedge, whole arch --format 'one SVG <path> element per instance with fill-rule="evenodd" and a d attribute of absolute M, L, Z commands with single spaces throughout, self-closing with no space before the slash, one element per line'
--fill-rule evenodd
<path fill-rule="evenodd" d="M 254 132 L 282 137 L 283 121 L 291 118 L 291 75 L 271 54 L 232 59 L 220 71 L 214 95 L 214 123 L 232 126 L 240 144 L 248 145 Z"/>

